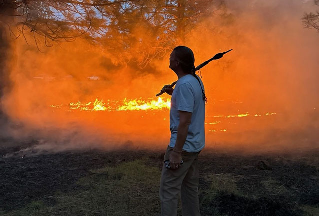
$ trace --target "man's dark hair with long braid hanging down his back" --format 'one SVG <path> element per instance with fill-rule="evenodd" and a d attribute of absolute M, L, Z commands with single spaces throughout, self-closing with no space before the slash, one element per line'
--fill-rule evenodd
<path fill-rule="evenodd" d="M 203 86 L 198 78 L 198 76 L 196 75 L 196 68 L 195 68 L 195 57 L 194 57 L 194 53 L 193 51 L 186 47 L 186 46 L 177 46 L 174 48 L 175 53 L 176 53 L 176 57 L 177 57 L 177 61 L 181 63 L 181 67 L 183 69 L 184 72 L 193 75 L 199 82 L 200 88 L 202 89 L 202 94 L 203 94 L 203 100 L 205 101 L 205 103 L 207 102 L 207 97 L 205 95 Z"/>

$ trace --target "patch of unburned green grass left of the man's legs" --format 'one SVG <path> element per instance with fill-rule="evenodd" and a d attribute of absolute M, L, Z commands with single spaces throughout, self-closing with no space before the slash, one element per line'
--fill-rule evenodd
<path fill-rule="evenodd" d="M 54 206 L 34 201 L 2 215 L 158 215 L 160 171 L 144 162 L 92 170 L 78 181 L 82 189 L 56 193 Z"/>

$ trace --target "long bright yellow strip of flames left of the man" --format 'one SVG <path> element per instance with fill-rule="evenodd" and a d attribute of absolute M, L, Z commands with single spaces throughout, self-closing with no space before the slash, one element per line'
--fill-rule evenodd
<path fill-rule="evenodd" d="M 121 105 L 118 105 L 121 103 Z M 118 100 L 107 100 L 96 98 L 94 102 L 82 103 L 71 102 L 68 105 L 50 105 L 52 108 L 69 108 L 71 110 L 81 111 L 135 111 L 135 110 L 162 110 L 169 109 L 171 106 L 170 99 L 163 100 L 159 97 L 157 100 L 142 100 L 142 99 L 124 99 L 122 102 Z"/>

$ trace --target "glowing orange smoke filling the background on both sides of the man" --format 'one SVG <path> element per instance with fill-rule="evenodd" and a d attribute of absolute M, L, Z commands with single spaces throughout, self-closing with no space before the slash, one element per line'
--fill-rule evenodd
<path fill-rule="evenodd" d="M 201 71 L 208 97 L 206 146 L 253 152 L 317 148 L 319 41 L 317 32 L 303 28 L 301 22 L 313 2 L 225 2 L 225 9 L 205 17 L 183 44 L 194 51 L 196 65 L 233 48 Z M 143 33 L 147 30 L 141 28 L 135 33 L 150 43 Z M 168 69 L 170 51 L 141 69 L 138 62 L 119 59 L 115 57 L 119 53 L 80 39 L 40 47 L 44 53 L 24 40 L 17 40 L 16 47 L 17 63 L 10 73 L 14 85 L 2 103 L 18 126 L 7 135 L 36 139 L 37 149 L 47 151 L 154 149 L 168 144 L 168 110 L 70 112 L 50 105 L 96 98 L 110 105 L 124 98 L 156 99 L 164 84 L 177 79 Z M 41 74 L 47 80 L 37 80 Z M 100 80 L 88 81 L 92 75 Z M 246 117 L 216 117 L 247 112 Z"/>

